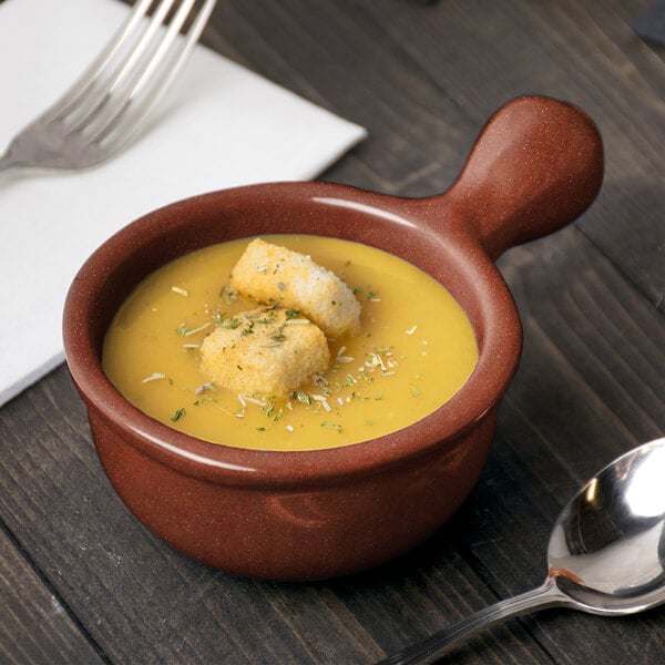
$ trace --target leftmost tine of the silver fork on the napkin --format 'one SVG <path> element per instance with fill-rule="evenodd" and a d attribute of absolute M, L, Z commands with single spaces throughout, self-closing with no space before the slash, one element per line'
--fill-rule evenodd
<path fill-rule="evenodd" d="M 44 111 L 41 119 L 50 121 L 54 117 L 62 117 L 70 113 L 72 109 L 76 108 L 82 95 L 88 92 L 93 82 L 99 78 L 100 73 L 108 66 L 109 62 L 113 60 L 120 50 L 123 49 L 127 41 L 134 35 L 136 27 L 141 23 L 141 20 L 146 14 L 153 1 L 154 0 L 139 0 L 136 2 L 132 13 L 117 29 L 103 51 L 92 61 L 66 92 Z"/>

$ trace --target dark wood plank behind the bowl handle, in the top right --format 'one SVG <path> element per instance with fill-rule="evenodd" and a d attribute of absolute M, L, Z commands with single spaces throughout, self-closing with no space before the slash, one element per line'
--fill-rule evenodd
<path fill-rule="evenodd" d="M 631 28 L 645 4 L 523 1 L 490 10 L 464 2 L 417 13 L 399 2 L 370 7 L 471 117 L 482 120 L 525 93 L 566 99 L 591 114 L 604 137 L 606 177 L 592 222 L 581 227 L 662 308 L 665 66 Z M 428 30 L 432 20 L 454 25 L 457 39 Z M 501 41 L 507 48 L 497 48 Z"/>

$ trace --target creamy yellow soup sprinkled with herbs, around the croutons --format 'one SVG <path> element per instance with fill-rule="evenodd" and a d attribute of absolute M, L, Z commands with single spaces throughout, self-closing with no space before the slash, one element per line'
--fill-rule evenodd
<path fill-rule="evenodd" d="M 201 371 L 198 347 L 222 317 L 256 303 L 227 286 L 247 239 L 200 249 L 140 284 L 106 334 L 104 370 L 137 408 L 206 441 L 316 450 L 407 427 L 467 381 L 478 360 L 473 330 L 429 275 L 360 243 L 263 237 L 310 255 L 344 278 L 362 307 L 360 330 L 329 340 L 332 360 L 325 376 L 287 398 L 257 399 L 215 386 Z"/>

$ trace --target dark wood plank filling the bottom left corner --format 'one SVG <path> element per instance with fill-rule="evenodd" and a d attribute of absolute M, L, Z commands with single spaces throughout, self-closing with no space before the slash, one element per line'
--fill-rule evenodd
<path fill-rule="evenodd" d="M 61 600 L 3 530 L 0 530 L 0 661 L 6 665 L 104 662 Z"/>

